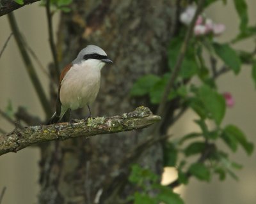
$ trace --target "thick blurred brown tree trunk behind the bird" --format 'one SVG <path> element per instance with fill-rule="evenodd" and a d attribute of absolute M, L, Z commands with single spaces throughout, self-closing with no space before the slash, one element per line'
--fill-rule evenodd
<path fill-rule="evenodd" d="M 72 11 L 61 14 L 57 50 L 62 66 L 91 44 L 102 47 L 114 62 L 102 69 L 93 116 L 130 112 L 138 105 L 156 110 L 147 98 L 131 98 L 129 91 L 141 76 L 161 75 L 167 69 L 166 47 L 176 19 L 172 3 L 73 1 Z M 127 181 L 131 163 L 140 163 L 158 174 L 163 170 L 160 143 L 125 161 L 139 142 L 147 140 L 147 135 L 140 134 L 132 131 L 44 145 L 40 203 L 118 203 L 125 199 L 132 193 Z"/>

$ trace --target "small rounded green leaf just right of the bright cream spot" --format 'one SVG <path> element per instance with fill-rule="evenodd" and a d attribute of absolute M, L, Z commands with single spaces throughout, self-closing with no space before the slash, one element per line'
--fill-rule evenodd
<path fill-rule="evenodd" d="M 197 179 L 207 180 L 211 179 L 211 173 L 209 169 L 202 163 L 194 163 L 189 167 L 189 172 Z"/>

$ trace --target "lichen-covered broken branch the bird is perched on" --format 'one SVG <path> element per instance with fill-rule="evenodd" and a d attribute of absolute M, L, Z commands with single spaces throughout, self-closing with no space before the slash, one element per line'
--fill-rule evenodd
<path fill-rule="evenodd" d="M 114 117 L 97 117 L 89 120 L 68 124 L 52 124 L 49 126 L 31 126 L 24 129 L 15 129 L 11 133 L 0 136 L 0 156 L 8 152 L 17 152 L 30 145 L 52 140 L 67 140 L 77 137 L 90 137 L 122 131 L 132 131 L 150 126 L 161 120 L 161 117 L 140 106 L 133 112 Z"/>

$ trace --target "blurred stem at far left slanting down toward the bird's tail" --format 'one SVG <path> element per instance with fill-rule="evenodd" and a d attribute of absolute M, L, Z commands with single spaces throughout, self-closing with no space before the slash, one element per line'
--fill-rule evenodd
<path fill-rule="evenodd" d="M 13 13 L 8 13 L 8 20 L 9 20 L 10 26 L 12 28 L 13 35 L 15 37 L 17 45 L 19 47 L 20 54 L 22 55 L 22 59 L 24 61 L 24 64 L 26 65 L 26 69 L 29 74 L 30 80 L 33 83 L 34 88 L 36 89 L 36 94 L 38 95 L 38 98 L 40 99 L 40 103 L 41 103 L 42 107 L 44 108 L 45 114 L 47 115 L 47 117 L 50 117 L 51 116 L 50 103 L 47 100 L 44 89 L 40 83 L 38 76 L 36 75 L 35 67 L 33 66 L 32 61 L 28 55 L 28 52 L 24 46 L 24 43 L 21 40 L 22 34 L 20 34 L 20 31 L 17 26 L 17 22 L 15 20 Z"/>

